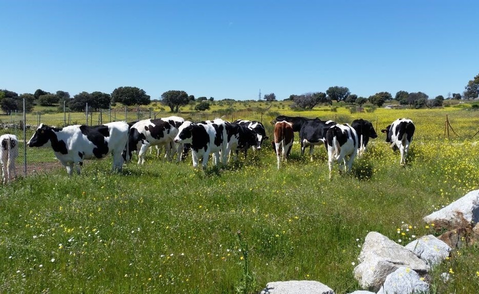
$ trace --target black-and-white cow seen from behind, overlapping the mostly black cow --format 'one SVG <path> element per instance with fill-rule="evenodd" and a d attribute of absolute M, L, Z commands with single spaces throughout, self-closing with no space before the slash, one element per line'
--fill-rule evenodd
<path fill-rule="evenodd" d="M 332 178 L 333 160 L 341 165 L 344 164 L 346 173 L 351 171 L 354 157 L 358 152 L 359 141 L 356 130 L 350 125 L 334 125 L 326 132 L 326 143 L 328 144 L 328 167 L 330 180 Z M 346 157 L 349 157 L 346 162 Z M 339 167 L 341 170 L 341 166 Z"/>

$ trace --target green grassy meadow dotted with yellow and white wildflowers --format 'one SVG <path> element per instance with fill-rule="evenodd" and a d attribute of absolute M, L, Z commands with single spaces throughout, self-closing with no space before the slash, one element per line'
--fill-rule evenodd
<path fill-rule="evenodd" d="M 332 181 L 324 148 L 310 161 L 295 143 L 276 170 L 271 139 L 246 159 L 206 170 L 190 158 L 149 155 L 118 174 L 111 158 L 86 161 L 79 176 L 63 167 L 31 171 L 0 188 L 0 292 L 257 293 L 271 281 L 315 280 L 349 293 L 359 289 L 353 269 L 368 232 L 400 244 L 438 235 L 422 217 L 479 189 L 479 112 L 467 105 L 352 113 L 279 102 L 262 117 L 270 136 L 277 113 L 364 118 L 379 137 L 351 174 Z M 446 115 L 456 133 L 449 138 Z M 400 117 L 416 125 L 405 167 L 380 133 Z M 28 149 L 28 163 L 55 161 L 50 149 Z M 477 245 L 454 250 L 432 271 L 431 293 L 479 292 L 478 256 Z"/>

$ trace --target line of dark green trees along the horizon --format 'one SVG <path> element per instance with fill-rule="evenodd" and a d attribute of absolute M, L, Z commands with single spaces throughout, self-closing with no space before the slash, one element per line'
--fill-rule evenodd
<path fill-rule="evenodd" d="M 461 93 L 449 93 L 447 99 L 473 99 L 479 96 L 479 74 L 470 80 L 465 86 L 465 91 Z M 25 98 L 25 110 L 27 112 L 33 109 L 34 105 L 41 106 L 55 106 L 59 105 L 60 108 L 63 104 L 68 107 L 70 111 L 85 111 L 85 106 L 88 103 L 90 109 L 107 109 L 111 106 L 115 106 L 116 103 L 122 103 L 126 106 L 132 105 L 148 105 L 151 100 L 150 96 L 146 94 L 143 89 L 137 87 L 118 87 L 111 94 L 103 93 L 99 91 L 94 92 L 80 92 L 73 97 L 70 97 L 70 93 L 66 91 L 56 91 L 50 93 L 37 89 L 32 93 L 18 94 L 10 90 L 0 90 L 0 108 L 5 113 L 10 114 L 12 111 L 23 110 L 23 99 Z M 264 95 L 266 101 L 276 101 L 276 95 L 269 93 Z M 344 101 L 346 104 L 355 104 L 362 107 L 363 104 L 369 102 L 372 105 L 381 107 L 386 101 L 393 100 L 393 95 L 389 92 L 378 92 L 369 97 L 361 97 L 356 94 L 352 94 L 347 87 L 334 86 L 329 87 L 326 92 L 312 92 L 306 94 L 292 94 L 288 99 L 294 102 L 293 107 L 301 109 L 312 109 L 318 104 L 329 104 L 333 101 Z M 443 95 L 438 95 L 434 99 L 429 99 L 429 96 L 423 92 L 407 92 L 398 91 L 394 97 L 394 100 L 398 101 L 400 105 L 408 105 L 410 107 L 440 107 L 445 100 Z M 194 95 L 188 95 L 182 90 L 169 90 L 161 95 L 160 102 L 168 106 L 171 112 L 178 112 L 181 106 L 194 104 L 199 102 L 194 109 L 198 111 L 204 111 L 210 108 L 210 102 L 214 101 L 213 97 L 201 96 L 195 99 Z"/>

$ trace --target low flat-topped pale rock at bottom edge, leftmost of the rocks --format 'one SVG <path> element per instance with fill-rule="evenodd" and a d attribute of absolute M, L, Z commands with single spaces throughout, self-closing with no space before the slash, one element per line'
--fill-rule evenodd
<path fill-rule="evenodd" d="M 334 294 L 334 291 L 316 281 L 286 281 L 268 283 L 261 294 Z"/>

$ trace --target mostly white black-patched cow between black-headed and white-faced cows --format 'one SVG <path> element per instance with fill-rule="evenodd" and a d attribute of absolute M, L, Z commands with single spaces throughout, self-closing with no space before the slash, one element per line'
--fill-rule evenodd
<path fill-rule="evenodd" d="M 138 152 L 138 164 L 145 162 L 145 154 L 149 146 L 161 145 L 165 147 L 166 157 L 171 158 L 173 139 L 178 135 L 176 122 L 171 120 L 143 119 L 136 122 L 129 130 L 128 153 L 123 153 L 123 158 L 129 161 L 132 153 Z M 179 125 L 179 124 L 178 124 Z"/>

